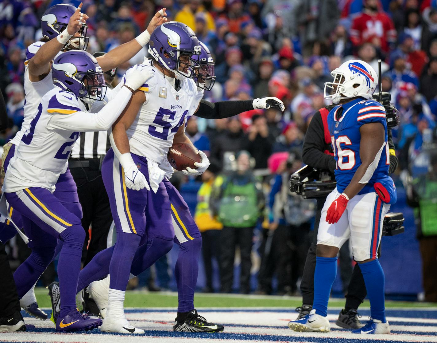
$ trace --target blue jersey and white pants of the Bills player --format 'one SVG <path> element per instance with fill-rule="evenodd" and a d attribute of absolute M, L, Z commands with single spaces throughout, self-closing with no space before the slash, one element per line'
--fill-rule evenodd
<path fill-rule="evenodd" d="M 384 126 L 384 144 L 372 163 L 374 168 L 369 168 L 361 180 L 361 183 L 367 182 L 364 188 L 350 199 L 340 220 L 328 224 L 324 220 L 326 211 L 343 193 L 361 165 L 360 128 L 368 123 L 381 123 Z M 329 112 L 328 127 L 337 162 L 337 188 L 329 194 L 323 207 L 317 244 L 340 248 L 350 237 L 355 260 L 375 258 L 382 235 L 383 218 L 390 208 L 389 204 L 396 201 L 394 183 L 388 176 L 390 161 L 385 109 L 374 100 L 355 99 L 347 104 L 338 105 Z M 388 194 L 388 198 L 385 199 L 387 203 L 384 203 L 375 192 L 375 185 L 382 186 L 384 193 Z"/>

